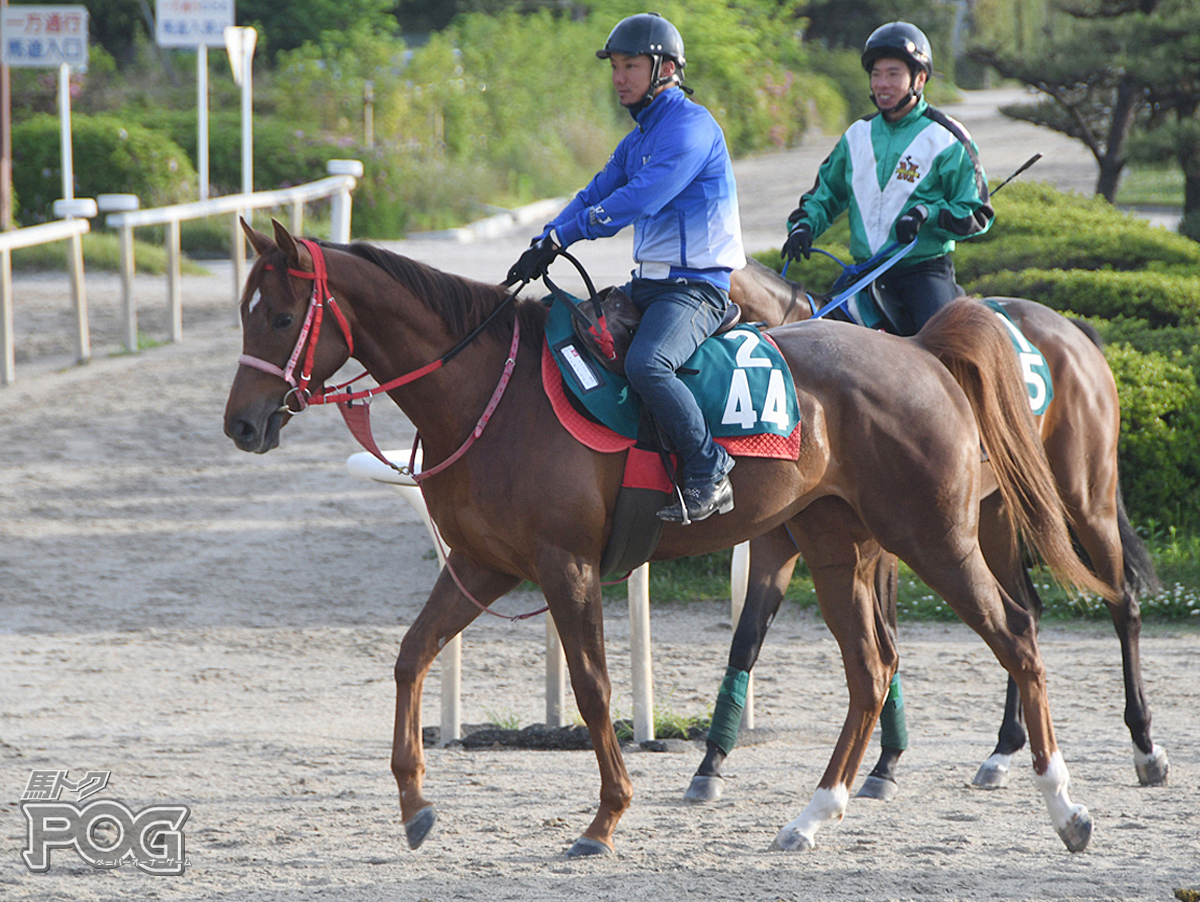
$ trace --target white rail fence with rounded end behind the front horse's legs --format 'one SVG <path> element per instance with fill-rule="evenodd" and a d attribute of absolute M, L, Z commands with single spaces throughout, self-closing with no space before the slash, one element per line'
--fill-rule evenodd
<path fill-rule="evenodd" d="M 407 451 L 384 451 L 384 456 L 398 464 L 408 463 Z M 372 482 L 384 482 L 400 491 L 401 497 L 420 516 L 433 540 L 438 564 L 445 565 L 442 540 L 430 519 L 421 489 L 410 476 L 403 476 L 386 467 L 373 455 L 359 451 L 350 455 L 346 467 L 352 476 Z M 416 463 L 420 469 L 420 459 Z M 750 569 L 750 545 L 743 542 L 733 549 L 730 566 L 732 623 L 737 629 L 738 618 L 745 603 Z M 634 740 L 644 742 L 654 739 L 654 678 L 650 666 L 650 565 L 643 564 L 629 576 L 629 656 L 630 691 L 634 704 Z M 438 653 L 442 684 L 440 741 L 462 739 L 462 635 L 455 636 Z M 558 638 L 553 619 L 546 615 L 546 726 L 563 727 L 566 723 L 566 659 L 563 643 Z M 742 711 L 742 728 L 754 729 L 754 675 L 746 688 L 745 708 Z"/>

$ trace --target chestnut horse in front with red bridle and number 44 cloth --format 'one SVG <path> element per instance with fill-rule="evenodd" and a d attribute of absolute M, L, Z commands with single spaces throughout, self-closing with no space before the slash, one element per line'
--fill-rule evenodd
<path fill-rule="evenodd" d="M 481 606 L 529 579 L 546 596 L 600 769 L 599 811 L 569 854 L 610 852 L 632 787 L 608 710 L 599 569 L 624 456 L 587 449 L 556 419 L 540 378 L 545 307 L 506 303 L 502 287 L 370 245 L 322 249 L 298 242 L 278 223 L 274 241 L 244 228 L 258 259 L 242 295 L 245 354 L 224 419 L 238 447 L 262 453 L 278 445 L 305 395 L 283 377 L 292 373 L 288 361 L 310 361 L 311 385 L 320 386 L 353 354 L 380 384 L 395 383 L 388 393 L 418 428 L 425 461 L 452 461 L 422 483 L 452 552 L 395 668 L 391 769 L 409 844 L 419 846 L 436 820 L 424 793 L 426 674 Z M 328 270 L 319 293 L 316 270 Z M 336 314 L 341 333 L 306 327 L 310 313 L 323 308 Z M 1055 829 L 1078 850 L 1091 836 L 1091 818 L 1067 795 L 1033 620 L 1003 590 L 979 546 L 980 440 L 1026 542 L 1064 579 L 1103 587 L 1072 553 L 1020 373 L 995 317 L 979 305 L 956 303 L 925 333 L 910 341 L 824 321 L 776 330 L 799 398 L 798 459 L 738 461 L 734 510 L 667 525 L 655 558 L 728 548 L 786 523 L 812 567 L 845 659 L 850 710 L 811 804 L 780 830 L 778 847 L 811 847 L 816 830 L 845 811 L 898 660 L 864 572 L 887 549 L 947 600 L 1016 680 L 1034 782 Z M 937 336 L 960 349 L 955 360 L 968 374 L 970 395 L 922 347 Z M 456 355 L 439 368 L 456 343 Z M 497 403 L 493 385 L 502 372 L 511 380 Z M 492 414 L 481 428 L 485 407 Z"/>

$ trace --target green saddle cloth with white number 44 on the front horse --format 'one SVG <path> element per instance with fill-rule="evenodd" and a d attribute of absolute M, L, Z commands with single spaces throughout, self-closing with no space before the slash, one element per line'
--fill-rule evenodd
<path fill-rule="evenodd" d="M 636 439 L 641 398 L 624 377 L 583 350 L 571 313 L 560 301 L 551 305 L 546 342 L 570 393 L 610 429 Z M 716 438 L 786 437 L 799 423 L 800 407 L 787 362 L 754 326 L 734 326 L 706 341 L 684 363 L 679 378 Z"/>

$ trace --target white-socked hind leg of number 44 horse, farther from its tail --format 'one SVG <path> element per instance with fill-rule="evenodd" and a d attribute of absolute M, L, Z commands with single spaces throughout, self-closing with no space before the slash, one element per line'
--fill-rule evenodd
<path fill-rule="evenodd" d="M 821 614 L 841 649 L 850 706 L 817 790 L 800 816 L 775 836 L 772 848 L 811 849 L 826 824 L 841 820 L 850 784 L 883 708 L 899 656 L 875 594 L 880 546 L 868 537 L 842 500 L 823 498 L 792 521 L 800 553 L 812 572 Z"/>

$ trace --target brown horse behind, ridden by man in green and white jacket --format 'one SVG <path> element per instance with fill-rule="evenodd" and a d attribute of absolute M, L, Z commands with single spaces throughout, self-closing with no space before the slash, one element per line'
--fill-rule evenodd
<path fill-rule="evenodd" d="M 815 307 L 804 288 L 784 278 L 755 259 L 733 273 L 730 296 L 738 302 L 743 318 L 768 326 L 809 319 Z M 1170 764 L 1166 751 L 1156 746 L 1150 734 L 1150 706 L 1142 687 L 1138 638 L 1141 614 L 1138 599 L 1160 585 L 1146 546 L 1134 533 L 1121 499 L 1117 474 L 1120 413 L 1116 383 L 1098 336 L 1033 301 L 1002 297 L 1009 317 L 1025 336 L 1044 354 L 1054 381 L 1054 401 L 1037 417 L 1038 432 L 1050 469 L 1066 504 L 1067 515 L 1086 555 L 1085 561 L 1109 587 L 1109 612 L 1121 643 L 1124 675 L 1124 720 L 1134 742 L 1134 766 L 1144 786 L 1168 781 Z M 1002 500 L 992 494 L 984 498 L 979 523 L 980 543 L 992 572 L 1012 597 L 1034 619 L 1042 612 L 1033 582 L 1015 553 L 1008 517 Z M 782 594 L 797 563 L 797 548 L 785 533 L 766 535 L 751 545 L 751 578 L 742 623 L 730 650 L 730 667 L 749 671 L 757 660 L 770 619 L 779 609 Z M 889 557 L 877 570 L 878 591 L 884 608 L 895 612 L 895 559 Z M 902 726 L 904 710 L 888 708 L 886 716 L 898 716 Z M 1025 745 L 1021 703 L 1016 684 L 1008 682 L 1000 740 L 992 754 L 974 777 L 976 786 L 998 788 L 1007 784 L 1012 756 Z M 900 750 L 883 748 L 871 771 L 864 794 L 895 790 L 895 765 Z M 709 746 L 697 777 L 718 777 L 726 757 Z M 720 781 L 697 780 L 689 790 L 692 800 L 707 801 L 721 792 Z"/>

